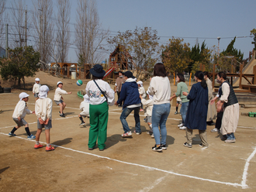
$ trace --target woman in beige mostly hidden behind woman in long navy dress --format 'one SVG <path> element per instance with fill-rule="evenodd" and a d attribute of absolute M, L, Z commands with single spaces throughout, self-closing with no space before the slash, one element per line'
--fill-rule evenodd
<path fill-rule="evenodd" d="M 208 87 L 208 101 L 211 101 L 214 98 L 213 97 L 213 84 L 212 84 L 212 81 L 209 80 L 209 73 L 207 71 L 204 71 L 203 74 L 204 74 L 204 79 L 206 80 L 206 84 Z M 206 124 L 207 125 L 215 125 L 213 123 L 213 119 L 216 119 L 216 107 L 215 107 L 215 105 L 210 105 L 210 102 L 209 102 Z"/>

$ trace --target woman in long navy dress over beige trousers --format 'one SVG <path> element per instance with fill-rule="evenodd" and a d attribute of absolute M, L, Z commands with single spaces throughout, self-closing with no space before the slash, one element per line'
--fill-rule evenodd
<path fill-rule="evenodd" d="M 183 145 L 192 147 L 193 129 L 199 129 L 201 144 L 199 146 L 208 147 L 206 135 L 206 117 L 208 109 L 208 88 L 202 71 L 195 72 L 196 84 L 193 84 L 188 93 L 183 92 L 189 99 L 189 108 L 185 118 L 185 126 L 187 127 L 187 142 Z"/>

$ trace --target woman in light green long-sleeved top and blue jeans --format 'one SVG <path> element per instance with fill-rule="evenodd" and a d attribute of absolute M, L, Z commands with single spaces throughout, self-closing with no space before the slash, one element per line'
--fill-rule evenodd
<path fill-rule="evenodd" d="M 185 78 L 183 74 L 177 74 L 176 80 L 178 81 L 177 84 L 177 91 L 175 94 L 173 94 L 173 96 L 171 96 L 170 101 L 175 98 L 175 97 L 180 97 L 182 99 L 182 108 L 181 108 L 181 114 L 182 114 L 182 124 L 178 125 L 179 129 L 187 129 L 184 125 L 185 122 L 185 116 L 187 114 L 188 111 L 188 107 L 189 107 L 189 99 L 182 94 L 182 92 L 187 92 L 188 91 L 188 86 L 187 84 L 185 84 Z"/>

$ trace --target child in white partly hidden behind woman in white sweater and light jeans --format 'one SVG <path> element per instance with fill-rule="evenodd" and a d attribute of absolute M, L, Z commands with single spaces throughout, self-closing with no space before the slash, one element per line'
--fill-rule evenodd
<path fill-rule="evenodd" d="M 145 106 L 145 115 L 146 115 L 145 122 L 147 122 L 147 125 L 150 128 L 150 131 L 147 132 L 147 134 L 150 134 L 151 138 L 154 138 L 154 134 L 152 131 L 152 119 L 151 119 L 154 101 L 153 101 L 153 96 L 148 94 L 148 91 L 147 91 L 147 95 L 149 100 L 142 98 L 141 95 L 140 95 L 140 99 L 141 99 L 141 103 Z"/>

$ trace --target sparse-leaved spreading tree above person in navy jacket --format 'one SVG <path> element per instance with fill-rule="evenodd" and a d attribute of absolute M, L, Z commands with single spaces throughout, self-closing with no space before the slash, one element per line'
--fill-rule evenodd
<path fill-rule="evenodd" d="M 116 47 L 118 44 L 125 46 L 126 50 L 133 57 L 136 63 L 135 70 L 137 78 L 140 74 L 151 74 L 159 54 L 160 47 L 158 46 L 159 37 L 157 37 L 157 30 L 150 27 L 144 29 L 137 28 L 134 31 L 127 30 L 117 36 L 111 36 L 108 39 L 109 46 Z"/>

